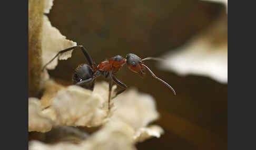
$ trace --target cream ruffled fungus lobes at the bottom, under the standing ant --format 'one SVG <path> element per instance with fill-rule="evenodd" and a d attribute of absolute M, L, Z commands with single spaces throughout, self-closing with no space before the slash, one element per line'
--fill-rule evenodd
<path fill-rule="evenodd" d="M 47 82 L 47 84 L 56 84 L 54 81 Z M 66 141 L 57 142 L 55 145 L 31 141 L 29 149 L 37 149 L 38 146 L 43 149 L 71 147 L 95 149 L 98 146 L 101 149 L 111 149 L 112 146 L 117 146 L 115 149 L 122 149 L 123 144 L 127 145 L 127 148 L 130 147 L 129 149 L 134 149 L 136 142 L 142 142 L 152 136 L 160 137 L 163 134 L 160 126 L 148 126 L 159 117 L 155 102 L 150 95 L 130 89 L 112 100 L 109 113 L 107 108 L 109 90 L 106 82 L 96 83 L 93 92 L 76 85 L 48 87 L 59 89 L 48 90 L 50 92 L 45 92 L 41 101 L 29 98 L 29 131 L 47 132 L 52 127 L 60 126 L 102 125 L 102 127 L 85 140 L 81 140 L 78 145 Z"/>

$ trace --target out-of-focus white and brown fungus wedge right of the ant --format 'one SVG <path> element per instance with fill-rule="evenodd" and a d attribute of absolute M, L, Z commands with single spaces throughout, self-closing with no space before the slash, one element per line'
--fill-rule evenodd
<path fill-rule="evenodd" d="M 209 28 L 184 46 L 163 55 L 160 68 L 179 75 L 207 76 L 228 83 L 228 16 L 223 13 Z"/>

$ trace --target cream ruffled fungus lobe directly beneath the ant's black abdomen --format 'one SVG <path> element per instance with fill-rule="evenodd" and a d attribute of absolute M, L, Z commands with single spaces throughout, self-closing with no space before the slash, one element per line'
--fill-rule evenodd
<path fill-rule="evenodd" d="M 99 94 L 76 85 L 61 87 L 54 81 L 47 82 L 49 83 L 46 84 L 52 85 L 48 88 L 57 87 L 57 89 L 45 92 L 42 102 L 35 98 L 29 99 L 28 108 L 41 114 L 32 114 L 29 117 L 29 123 L 35 123 L 29 124 L 29 131 L 45 132 L 51 130 L 49 126 L 99 126 L 105 123 L 112 114 L 107 109 L 107 97 L 103 97 L 109 92 L 107 83 L 95 85 L 95 91 Z M 46 129 L 40 126 L 42 124 L 40 121 L 34 122 L 37 117 L 41 119 L 41 116 L 51 120 L 47 122 L 49 124 Z"/>

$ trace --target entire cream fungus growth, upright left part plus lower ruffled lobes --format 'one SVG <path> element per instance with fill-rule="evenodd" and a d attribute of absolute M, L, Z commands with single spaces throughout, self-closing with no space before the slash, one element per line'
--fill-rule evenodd
<path fill-rule="evenodd" d="M 163 129 L 150 125 L 159 114 L 154 99 L 129 89 L 111 101 L 108 109 L 109 85 L 97 82 L 93 91 L 76 85 L 64 86 L 51 79 L 43 64 L 56 53 L 76 42 L 67 40 L 52 27 L 44 13 L 49 13 L 52 0 L 29 0 L 29 99 L 28 132 L 41 133 L 49 144 L 33 138 L 29 149 L 136 149 L 135 143 L 160 137 Z M 59 59 L 71 57 L 72 51 Z M 47 69 L 57 66 L 57 59 Z M 39 99 L 38 93 L 44 89 Z M 115 96 L 113 87 L 112 97 Z M 77 126 L 101 126 L 92 135 Z M 61 135 L 56 136 L 56 135 Z"/>

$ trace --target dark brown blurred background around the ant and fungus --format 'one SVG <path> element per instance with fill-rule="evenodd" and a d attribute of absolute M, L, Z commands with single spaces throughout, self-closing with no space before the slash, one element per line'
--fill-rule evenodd
<path fill-rule="evenodd" d="M 221 4 L 204 1 L 88 1 L 55 0 L 48 17 L 67 39 L 83 45 L 96 63 L 127 53 L 141 58 L 159 57 L 182 46 L 225 14 Z M 71 83 L 72 73 L 86 62 L 81 51 L 59 61 L 50 76 Z M 147 73 L 143 80 L 123 67 L 117 77 L 129 87 L 151 94 L 164 128 L 161 138 L 137 144 L 138 149 L 227 149 L 228 84 L 207 77 L 180 77 L 152 71 L 174 87 L 177 95 Z M 103 78 L 100 78 L 100 80 Z M 145 84 L 146 83 L 146 84 Z"/>

